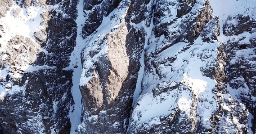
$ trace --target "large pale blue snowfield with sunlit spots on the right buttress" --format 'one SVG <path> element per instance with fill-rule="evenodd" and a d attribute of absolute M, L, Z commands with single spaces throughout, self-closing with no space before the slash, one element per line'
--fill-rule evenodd
<path fill-rule="evenodd" d="M 147 53 L 155 50 L 155 44 L 162 42 L 162 38 L 164 38 L 162 36 L 157 40 L 151 38 L 153 42 L 146 48 Z M 186 42 L 175 43 L 148 61 L 149 63 L 157 63 L 156 69 L 162 77 L 159 78 L 156 71 L 153 71 L 153 73 L 144 72 L 144 78 L 142 80 L 143 90 L 134 102 L 137 105 L 134 105 L 131 116 L 133 123 L 150 123 L 152 118 L 170 115 L 175 112 L 176 108 L 185 112 L 190 118 L 194 116 L 191 111 L 193 93 L 198 99 L 197 109 L 194 111 L 197 114 L 197 120 L 201 120 L 206 127 L 210 127 L 211 114 L 216 111 L 218 106 L 214 99 L 215 94 L 212 92 L 215 88 L 216 81 L 204 76 L 201 68 L 215 65 L 218 46 L 217 41 L 214 43 L 202 42 L 202 38 L 199 37 L 193 44 Z M 173 57 L 176 58 L 173 63 L 162 63 L 162 61 Z M 163 83 L 165 81 L 171 81 L 172 83 L 166 85 L 167 83 Z M 171 87 L 175 82 L 181 82 L 189 90 L 180 91 L 175 89 L 170 92 L 162 92 L 158 96 L 153 96 L 152 90 L 154 88 L 157 87 L 156 90 L 161 91 L 161 86 L 163 88 L 165 88 L 164 85 Z M 155 108 L 161 110 L 152 110 Z M 153 122 L 155 124 L 159 123 L 156 121 Z"/>

